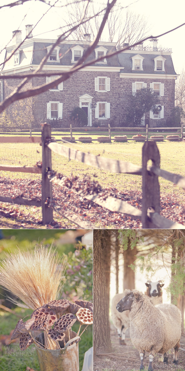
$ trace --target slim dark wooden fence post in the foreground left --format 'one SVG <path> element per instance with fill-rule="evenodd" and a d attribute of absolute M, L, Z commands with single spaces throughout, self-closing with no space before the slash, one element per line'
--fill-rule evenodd
<path fill-rule="evenodd" d="M 47 177 L 47 172 L 52 170 L 51 150 L 46 145 L 46 139 L 51 138 L 51 127 L 48 124 L 42 125 L 42 224 L 53 221 L 53 209 L 45 204 L 47 198 L 52 201 L 52 182 Z"/>

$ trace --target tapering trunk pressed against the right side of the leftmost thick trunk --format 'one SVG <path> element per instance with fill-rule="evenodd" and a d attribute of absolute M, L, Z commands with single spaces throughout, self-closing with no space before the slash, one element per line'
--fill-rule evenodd
<path fill-rule="evenodd" d="M 101 246 L 103 252 L 105 285 L 107 292 L 107 302 L 110 303 L 110 270 L 111 270 L 111 230 L 102 230 Z"/>

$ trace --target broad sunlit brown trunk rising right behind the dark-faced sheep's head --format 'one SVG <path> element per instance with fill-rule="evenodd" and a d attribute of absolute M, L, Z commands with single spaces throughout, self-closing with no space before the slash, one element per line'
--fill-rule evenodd
<path fill-rule="evenodd" d="M 128 248 L 124 250 L 123 257 L 124 257 L 124 278 L 123 278 L 123 290 L 135 289 L 135 272 L 130 267 L 131 264 L 134 264 L 136 260 L 137 248 L 131 250 L 130 241 L 128 241 Z"/>

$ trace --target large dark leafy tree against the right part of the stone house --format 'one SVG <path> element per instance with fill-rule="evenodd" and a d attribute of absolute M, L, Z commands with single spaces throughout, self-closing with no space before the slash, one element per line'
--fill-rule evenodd
<path fill-rule="evenodd" d="M 148 88 L 142 88 L 134 95 L 128 95 L 128 101 L 127 122 L 132 123 L 133 126 L 141 125 L 142 116 L 160 103 L 158 95 L 152 93 L 152 89 Z"/>

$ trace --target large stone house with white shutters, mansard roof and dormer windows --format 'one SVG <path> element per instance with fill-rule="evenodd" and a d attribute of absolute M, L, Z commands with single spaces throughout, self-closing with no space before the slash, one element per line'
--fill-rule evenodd
<path fill-rule="evenodd" d="M 26 26 L 26 33 L 32 29 Z M 19 45 L 21 31 L 13 32 L 11 46 L 6 48 L 6 56 Z M 28 73 L 35 70 L 55 40 L 38 39 L 29 35 L 17 52 L 3 66 L 2 75 Z M 90 35 L 84 40 L 65 40 L 55 47 L 44 65 L 43 72 L 67 71 L 83 55 L 90 43 Z M 160 97 L 159 111 L 148 112 L 142 119 L 153 119 L 153 126 L 166 126 L 174 110 L 175 79 L 171 50 L 161 49 L 157 40 L 151 46 L 139 45 L 118 55 L 106 58 L 106 54 L 116 50 L 116 43 L 99 42 L 88 57 L 88 61 L 99 56 L 105 58 L 71 75 L 63 83 L 36 97 L 33 97 L 33 112 L 37 122 L 47 121 L 54 125 L 60 119 L 60 126 L 66 127 L 71 109 L 80 106 L 88 116 L 88 125 L 127 126 L 125 111 L 129 105 L 128 95 L 143 87 L 152 88 Z M 31 86 L 38 86 L 54 77 L 35 77 Z M 1 80 L 1 95 L 7 96 L 20 82 L 16 79 Z M 145 119 L 145 120 L 144 120 Z M 37 125 L 38 126 L 38 125 Z"/>

